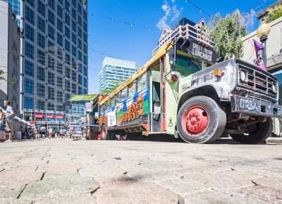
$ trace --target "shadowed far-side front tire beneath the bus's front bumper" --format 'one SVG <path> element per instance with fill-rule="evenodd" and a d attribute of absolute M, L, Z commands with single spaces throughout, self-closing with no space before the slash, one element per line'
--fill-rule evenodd
<path fill-rule="evenodd" d="M 268 117 L 266 122 L 257 122 L 250 125 L 251 131 L 248 134 L 230 134 L 235 140 L 243 144 L 264 143 L 271 135 L 273 130 L 273 121 Z"/>

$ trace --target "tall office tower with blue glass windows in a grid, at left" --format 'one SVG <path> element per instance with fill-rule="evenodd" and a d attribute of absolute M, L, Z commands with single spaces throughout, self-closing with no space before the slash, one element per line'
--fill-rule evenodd
<path fill-rule="evenodd" d="M 64 111 L 88 92 L 87 0 L 7 0 L 21 32 L 20 110 Z"/>

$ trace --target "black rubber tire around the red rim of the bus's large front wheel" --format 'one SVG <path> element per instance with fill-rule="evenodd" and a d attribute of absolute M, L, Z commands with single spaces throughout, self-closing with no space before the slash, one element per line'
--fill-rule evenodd
<path fill-rule="evenodd" d="M 200 133 L 192 134 L 185 127 L 183 117 L 186 111 L 193 106 L 204 108 L 207 114 L 207 127 Z M 202 113 L 204 114 L 204 113 Z M 215 141 L 221 136 L 226 127 L 226 113 L 212 98 L 207 96 L 195 96 L 183 103 L 177 115 L 177 129 L 181 138 L 188 143 L 204 144 Z"/>

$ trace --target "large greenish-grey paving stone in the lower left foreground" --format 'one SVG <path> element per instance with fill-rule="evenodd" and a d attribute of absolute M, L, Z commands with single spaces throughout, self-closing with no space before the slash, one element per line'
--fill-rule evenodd
<path fill-rule="evenodd" d="M 20 198 L 36 201 L 93 193 L 98 188 L 99 184 L 89 177 L 61 177 L 27 184 L 25 190 L 20 195 Z"/>

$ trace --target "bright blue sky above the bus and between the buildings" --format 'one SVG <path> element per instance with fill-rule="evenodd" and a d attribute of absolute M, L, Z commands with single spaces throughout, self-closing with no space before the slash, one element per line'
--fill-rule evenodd
<path fill-rule="evenodd" d="M 242 13 L 247 13 L 252 8 L 259 11 L 275 2 L 275 0 L 191 1 L 199 6 L 202 12 L 185 0 L 89 0 L 89 93 L 98 92 L 98 73 L 105 57 L 96 51 L 144 65 L 152 57 L 152 50 L 157 46 L 161 35 L 159 31 L 131 27 L 97 15 L 159 30 L 164 25 L 173 27 L 182 17 L 195 23 L 202 18 L 208 22 L 209 16 L 204 12 L 210 15 L 221 13 L 221 16 L 225 16 L 238 8 Z M 258 21 L 255 20 L 253 30 L 257 27 Z"/>

